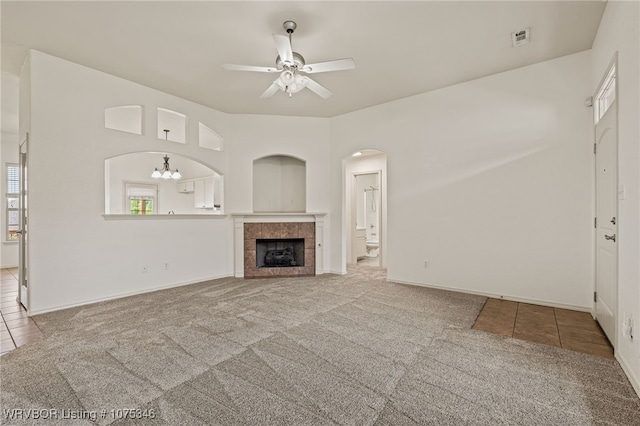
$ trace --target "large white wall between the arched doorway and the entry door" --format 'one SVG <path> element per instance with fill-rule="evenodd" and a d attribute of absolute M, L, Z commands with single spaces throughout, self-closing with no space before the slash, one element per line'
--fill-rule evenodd
<path fill-rule="evenodd" d="M 362 147 L 387 153 L 389 280 L 591 309 L 589 61 L 574 54 L 332 120 L 332 174 Z M 337 180 L 332 192 L 335 215 Z"/>

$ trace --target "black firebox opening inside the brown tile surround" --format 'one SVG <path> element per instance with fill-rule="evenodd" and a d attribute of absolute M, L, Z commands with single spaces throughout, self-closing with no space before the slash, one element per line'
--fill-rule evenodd
<path fill-rule="evenodd" d="M 256 240 L 256 268 L 304 266 L 304 238 Z"/>

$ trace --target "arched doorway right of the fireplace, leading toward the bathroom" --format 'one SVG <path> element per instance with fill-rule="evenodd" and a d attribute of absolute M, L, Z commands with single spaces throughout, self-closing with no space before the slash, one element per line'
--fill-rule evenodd
<path fill-rule="evenodd" d="M 363 150 L 345 161 L 347 263 L 386 267 L 387 156 Z"/>

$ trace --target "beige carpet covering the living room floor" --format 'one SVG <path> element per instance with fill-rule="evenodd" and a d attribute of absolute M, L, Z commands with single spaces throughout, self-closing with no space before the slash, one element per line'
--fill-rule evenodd
<path fill-rule="evenodd" d="M 0 358 L 1 421 L 640 425 L 617 362 L 471 330 L 484 301 L 356 267 L 40 315 L 45 337 Z"/>

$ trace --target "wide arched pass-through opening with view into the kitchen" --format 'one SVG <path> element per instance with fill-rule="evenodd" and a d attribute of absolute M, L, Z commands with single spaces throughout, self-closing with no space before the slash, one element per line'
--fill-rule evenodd
<path fill-rule="evenodd" d="M 180 179 L 153 178 L 164 165 Z M 223 176 L 198 161 L 175 153 L 135 152 L 107 158 L 105 214 L 222 214 Z"/>

